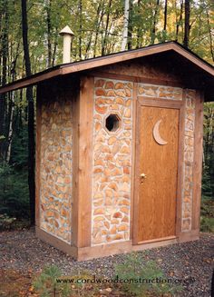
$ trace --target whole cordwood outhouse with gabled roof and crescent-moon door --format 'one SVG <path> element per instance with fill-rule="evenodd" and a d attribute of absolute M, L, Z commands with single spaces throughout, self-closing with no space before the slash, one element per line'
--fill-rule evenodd
<path fill-rule="evenodd" d="M 37 85 L 36 234 L 77 260 L 199 238 L 214 69 L 175 42 L 62 64 Z"/>

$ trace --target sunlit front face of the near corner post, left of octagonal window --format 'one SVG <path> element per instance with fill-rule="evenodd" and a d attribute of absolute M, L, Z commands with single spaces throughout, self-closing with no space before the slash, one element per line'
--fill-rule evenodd
<path fill-rule="evenodd" d="M 91 246 L 93 77 L 81 79 L 79 106 L 78 247 Z"/>

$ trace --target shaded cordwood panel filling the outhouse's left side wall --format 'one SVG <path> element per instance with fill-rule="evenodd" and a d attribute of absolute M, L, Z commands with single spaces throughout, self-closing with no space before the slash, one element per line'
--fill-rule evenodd
<path fill-rule="evenodd" d="M 40 228 L 71 243 L 72 103 L 42 106 Z"/>

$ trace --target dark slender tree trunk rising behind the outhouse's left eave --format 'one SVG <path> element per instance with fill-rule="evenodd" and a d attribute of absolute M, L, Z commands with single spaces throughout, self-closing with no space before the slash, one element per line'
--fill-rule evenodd
<path fill-rule="evenodd" d="M 26 76 L 29 76 L 31 75 L 31 62 L 28 47 L 26 0 L 22 0 L 22 27 L 25 70 Z M 26 98 L 28 102 L 28 186 L 30 196 L 31 224 L 34 224 L 34 97 L 32 87 L 27 87 Z"/>

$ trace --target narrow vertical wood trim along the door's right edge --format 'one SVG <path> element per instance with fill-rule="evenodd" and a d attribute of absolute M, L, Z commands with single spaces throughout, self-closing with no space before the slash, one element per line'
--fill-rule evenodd
<path fill-rule="evenodd" d="M 182 105 L 180 107 L 179 124 L 179 146 L 178 146 L 178 183 L 177 183 L 177 203 L 176 203 L 176 236 L 180 236 L 182 221 L 182 191 L 184 175 L 184 137 L 185 137 L 185 98 L 186 92 L 182 91 Z"/>

